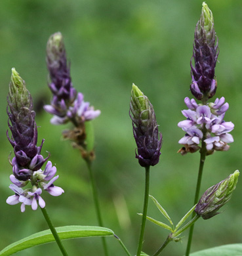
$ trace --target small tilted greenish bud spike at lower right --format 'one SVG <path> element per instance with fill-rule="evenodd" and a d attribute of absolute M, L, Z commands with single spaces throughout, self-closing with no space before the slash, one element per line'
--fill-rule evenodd
<path fill-rule="evenodd" d="M 220 181 L 218 184 L 211 186 L 197 203 L 195 213 L 203 217 L 203 219 L 210 219 L 217 215 L 218 209 L 230 200 L 238 178 L 239 171 L 235 171 L 224 181 Z"/>

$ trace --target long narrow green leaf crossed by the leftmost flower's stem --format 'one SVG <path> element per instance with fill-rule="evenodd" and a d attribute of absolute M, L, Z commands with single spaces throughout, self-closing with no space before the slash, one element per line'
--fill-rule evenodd
<path fill-rule="evenodd" d="M 113 236 L 114 233 L 109 228 L 102 228 L 100 226 L 60 226 L 56 228 L 58 235 L 61 240 L 70 238 L 86 238 L 93 236 Z M 33 247 L 39 244 L 45 244 L 49 242 L 54 242 L 54 236 L 51 231 L 44 230 L 18 242 L 8 245 L 2 251 L 0 251 L 1 256 L 12 255 L 18 251 Z"/>

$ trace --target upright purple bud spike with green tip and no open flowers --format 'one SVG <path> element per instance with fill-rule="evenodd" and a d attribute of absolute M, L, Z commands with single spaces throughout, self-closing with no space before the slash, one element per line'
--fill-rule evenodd
<path fill-rule="evenodd" d="M 130 116 L 142 167 L 156 165 L 161 154 L 162 135 L 158 131 L 153 106 L 136 85 L 132 85 Z"/>

